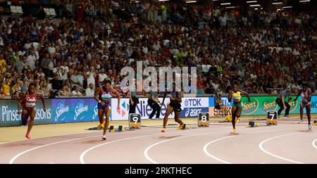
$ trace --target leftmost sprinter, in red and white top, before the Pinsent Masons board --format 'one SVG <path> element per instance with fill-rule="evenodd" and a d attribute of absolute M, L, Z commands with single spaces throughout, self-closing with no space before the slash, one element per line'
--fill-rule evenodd
<path fill-rule="evenodd" d="M 44 100 L 44 95 L 39 94 L 35 91 L 36 89 L 36 84 L 31 83 L 29 85 L 29 88 L 27 89 L 27 92 L 25 92 L 22 97 L 18 101 L 18 115 L 20 115 L 20 107 L 22 106 L 22 125 L 27 125 L 27 122 L 29 123 L 27 127 L 27 133 L 25 134 L 25 137 L 27 139 L 31 139 L 31 129 L 34 125 L 34 119 L 36 115 L 36 102 L 37 98 L 41 98 L 42 103 L 43 103 L 43 110 L 46 112 L 46 107 L 45 107 L 45 100 Z M 28 118 L 30 117 L 30 120 Z"/>

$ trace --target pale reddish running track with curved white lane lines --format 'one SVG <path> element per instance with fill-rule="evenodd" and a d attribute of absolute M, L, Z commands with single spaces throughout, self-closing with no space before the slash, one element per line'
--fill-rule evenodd
<path fill-rule="evenodd" d="M 212 123 L 208 128 L 177 130 L 143 127 L 136 131 L 69 134 L 0 144 L 0 163 L 317 163 L 317 127 L 280 121 L 246 128 Z"/>

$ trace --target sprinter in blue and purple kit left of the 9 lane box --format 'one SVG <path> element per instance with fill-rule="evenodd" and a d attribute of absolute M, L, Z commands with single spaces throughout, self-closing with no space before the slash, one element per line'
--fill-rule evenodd
<path fill-rule="evenodd" d="M 111 88 L 111 81 L 106 80 L 106 85 L 101 86 L 97 89 L 94 94 L 94 99 L 98 101 L 98 115 L 100 125 L 104 125 L 104 134 L 102 139 L 106 140 L 106 132 L 109 126 L 109 117 L 111 113 L 111 96 L 116 95 L 118 97 L 118 106 L 117 110 L 120 108 L 120 94 L 116 89 Z M 106 115 L 106 120 L 104 120 L 104 115 Z M 106 125 L 105 125 L 106 124 Z"/>

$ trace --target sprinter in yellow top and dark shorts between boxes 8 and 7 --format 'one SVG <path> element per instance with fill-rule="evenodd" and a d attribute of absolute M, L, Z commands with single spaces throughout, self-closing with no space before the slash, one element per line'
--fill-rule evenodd
<path fill-rule="evenodd" d="M 235 117 L 240 117 L 242 113 L 242 96 L 247 96 L 248 101 L 250 102 L 250 96 L 245 91 L 239 91 L 237 89 L 237 83 L 235 82 L 233 85 L 233 91 L 229 92 L 228 101 L 231 102 L 231 98 L 233 98 L 233 105 L 232 105 L 232 127 L 231 134 L 235 134 Z"/>

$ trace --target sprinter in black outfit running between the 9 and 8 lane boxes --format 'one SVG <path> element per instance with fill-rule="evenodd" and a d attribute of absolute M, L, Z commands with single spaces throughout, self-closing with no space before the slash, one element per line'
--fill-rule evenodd
<path fill-rule="evenodd" d="M 166 91 L 163 96 L 163 102 L 167 94 L 168 92 Z M 168 122 L 168 116 L 173 112 L 175 114 L 174 116 L 175 122 L 178 122 L 178 124 L 180 124 L 180 126 L 178 126 L 178 129 L 182 129 L 182 125 L 184 124 L 182 120 L 180 120 L 180 111 L 182 110 L 180 103 L 182 103 L 182 97 L 180 96 L 180 92 L 175 91 L 175 83 L 173 83 L 173 91 L 169 92 L 168 96 L 170 97 L 170 103 L 168 104 L 168 107 L 166 108 L 166 115 L 163 120 L 163 129 L 161 132 L 166 132 L 166 124 Z"/>

